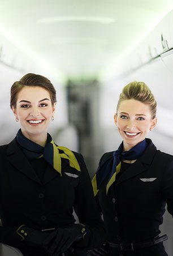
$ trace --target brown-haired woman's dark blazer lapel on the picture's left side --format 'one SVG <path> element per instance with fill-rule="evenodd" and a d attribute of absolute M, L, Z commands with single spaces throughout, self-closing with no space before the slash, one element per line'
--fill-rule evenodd
<path fill-rule="evenodd" d="M 29 164 L 27 157 L 25 157 L 24 153 L 21 151 L 18 143 L 16 142 L 16 138 L 12 140 L 8 144 L 7 148 L 7 160 L 20 172 L 31 178 L 33 181 L 37 182 L 38 184 L 42 185 L 41 181 L 37 177 L 36 173 L 34 172 L 33 168 Z"/>

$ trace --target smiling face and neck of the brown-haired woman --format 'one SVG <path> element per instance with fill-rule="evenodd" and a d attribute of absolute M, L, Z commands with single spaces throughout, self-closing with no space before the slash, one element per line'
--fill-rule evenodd
<path fill-rule="evenodd" d="M 55 104 L 52 105 L 46 89 L 38 86 L 24 87 L 18 93 L 16 108 L 12 106 L 12 111 L 19 119 L 21 132 L 25 137 L 31 140 L 36 137 L 46 139 L 47 126 L 55 111 Z"/>

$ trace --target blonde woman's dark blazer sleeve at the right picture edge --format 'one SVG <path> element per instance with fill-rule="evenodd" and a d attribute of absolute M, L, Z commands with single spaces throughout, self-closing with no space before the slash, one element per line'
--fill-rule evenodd
<path fill-rule="evenodd" d="M 163 171 L 161 193 L 167 203 L 167 210 L 173 217 L 173 157 L 168 159 Z"/>

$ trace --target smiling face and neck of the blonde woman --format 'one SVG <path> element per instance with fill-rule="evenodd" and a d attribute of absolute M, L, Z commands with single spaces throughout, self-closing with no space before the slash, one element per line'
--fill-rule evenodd
<path fill-rule="evenodd" d="M 114 121 L 123 138 L 124 151 L 128 151 L 146 138 L 149 130 L 155 127 L 157 118 L 152 119 L 148 104 L 131 99 L 120 103 Z"/>

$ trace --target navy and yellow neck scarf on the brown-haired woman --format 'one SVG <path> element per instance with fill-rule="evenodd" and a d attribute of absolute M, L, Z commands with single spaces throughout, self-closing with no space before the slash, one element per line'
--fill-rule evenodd
<path fill-rule="evenodd" d="M 80 171 L 79 163 L 77 162 L 73 152 L 66 147 L 56 146 L 49 133 L 47 133 L 47 141 L 45 147 L 42 147 L 32 140 L 26 138 L 21 133 L 21 129 L 18 131 L 16 138 L 19 145 L 21 146 L 21 150 L 24 152 L 27 159 L 37 159 L 44 157 L 44 159 L 55 170 L 57 170 L 60 176 L 62 176 L 61 159 L 67 159 L 69 161 L 70 167 Z"/>

